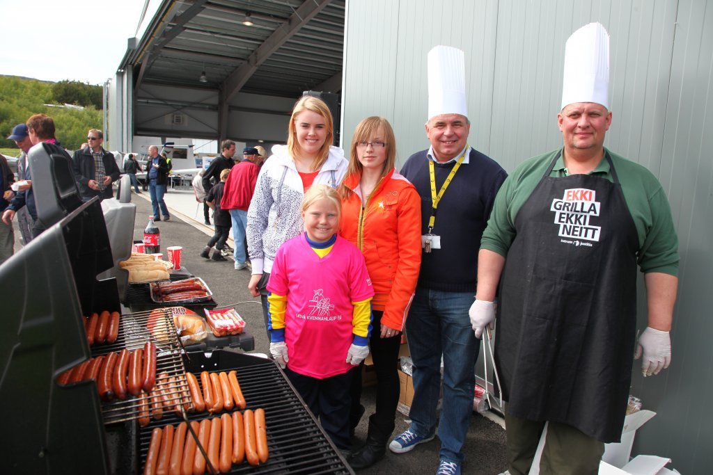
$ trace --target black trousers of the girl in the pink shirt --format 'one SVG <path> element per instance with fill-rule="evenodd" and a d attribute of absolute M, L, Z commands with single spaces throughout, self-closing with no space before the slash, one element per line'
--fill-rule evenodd
<path fill-rule="evenodd" d="M 349 442 L 349 407 L 352 405 L 352 399 L 349 397 L 349 382 L 354 372 L 359 372 L 359 367 L 343 375 L 318 380 L 315 377 L 300 375 L 289 367 L 284 370 L 289 382 L 292 382 L 294 389 L 314 417 L 319 419 L 322 429 L 327 432 L 337 449 L 352 448 Z"/>

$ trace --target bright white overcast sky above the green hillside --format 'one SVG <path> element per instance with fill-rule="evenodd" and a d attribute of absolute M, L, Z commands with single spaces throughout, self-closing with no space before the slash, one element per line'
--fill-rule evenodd
<path fill-rule="evenodd" d="M 103 84 L 161 0 L 0 0 L 0 75 Z"/>

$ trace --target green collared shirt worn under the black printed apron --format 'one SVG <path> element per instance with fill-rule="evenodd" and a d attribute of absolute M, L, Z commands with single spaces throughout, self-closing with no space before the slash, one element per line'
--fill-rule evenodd
<path fill-rule="evenodd" d="M 483 232 L 481 249 L 507 256 L 517 229 L 515 217 L 530 197 L 560 150 L 525 160 L 508 176 L 495 200 L 488 227 Z M 612 163 L 624 193 L 627 208 L 634 220 L 639 239 L 637 261 L 642 272 L 678 273 L 678 237 L 673 226 L 671 207 L 658 179 L 645 167 L 609 150 Z M 590 174 L 613 182 L 609 162 L 602 159 Z M 568 175 L 563 157 L 557 159 L 550 177 Z"/>

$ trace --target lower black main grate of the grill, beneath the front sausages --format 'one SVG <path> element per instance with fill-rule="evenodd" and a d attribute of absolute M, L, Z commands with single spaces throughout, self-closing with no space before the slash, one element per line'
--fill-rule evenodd
<path fill-rule="evenodd" d="M 220 353 L 220 352 L 214 352 Z M 245 355 L 240 355 L 245 357 Z M 195 357 L 195 356 L 194 356 Z M 255 364 L 242 367 L 222 367 L 217 371 L 237 370 L 238 381 L 247 403 L 246 409 L 265 409 L 267 424 L 267 445 L 270 458 L 260 466 L 250 466 L 247 462 L 232 466 L 232 474 L 353 474 L 337 449 L 317 425 L 314 417 L 307 411 L 302 400 L 289 385 L 287 379 L 270 360 L 257 357 Z M 191 364 L 193 363 L 193 365 Z M 215 370 L 210 365 L 202 365 L 196 370 L 195 362 L 188 363 L 196 376 L 200 370 Z M 200 384 L 200 377 L 198 377 Z M 220 417 L 207 412 L 188 414 L 188 421 Z M 140 430 L 140 469 L 143 469 L 151 431 L 154 427 L 173 424 L 174 427 L 183 419 L 175 414 L 166 414 L 159 422 L 152 421 L 148 427 Z M 190 437 L 190 433 L 188 435 Z M 210 473 L 207 471 L 206 473 Z"/>

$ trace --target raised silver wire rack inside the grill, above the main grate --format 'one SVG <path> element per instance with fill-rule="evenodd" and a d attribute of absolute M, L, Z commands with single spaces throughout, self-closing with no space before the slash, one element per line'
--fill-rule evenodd
<path fill-rule="evenodd" d="M 183 407 L 183 404 L 190 404 L 190 397 L 188 397 L 188 382 L 185 380 L 181 346 L 172 315 L 170 308 L 121 315 L 116 342 L 111 345 L 92 345 L 91 353 L 96 357 L 118 352 L 123 348 L 135 350 L 143 348 L 146 342 L 152 340 L 156 344 L 157 384 L 158 375 L 163 372 L 167 373 L 168 377 L 175 377 L 173 383 L 164 385 L 163 388 L 172 406 Z M 153 331 L 149 330 L 149 323 L 153 324 Z M 125 400 L 102 402 L 104 424 L 138 419 L 138 410 L 143 404 L 149 404 L 150 407 L 149 397 L 143 392 L 140 396 L 128 395 Z"/>

